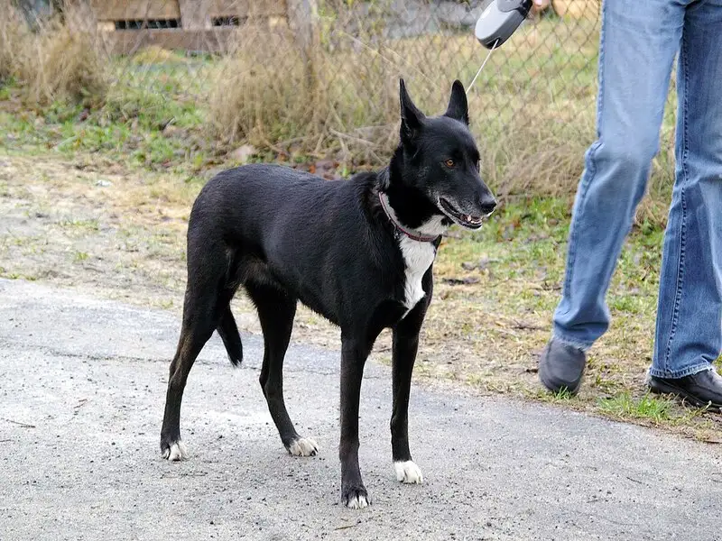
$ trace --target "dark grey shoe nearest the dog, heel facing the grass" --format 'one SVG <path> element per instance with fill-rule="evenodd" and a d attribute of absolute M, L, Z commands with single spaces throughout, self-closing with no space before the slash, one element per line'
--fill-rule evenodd
<path fill-rule="evenodd" d="M 539 362 L 539 379 L 551 392 L 566 389 L 577 394 L 586 364 L 587 355 L 578 347 L 552 338 Z"/>

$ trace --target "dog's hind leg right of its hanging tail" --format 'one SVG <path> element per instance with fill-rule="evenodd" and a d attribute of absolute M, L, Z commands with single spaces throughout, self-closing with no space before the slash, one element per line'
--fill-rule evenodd
<path fill-rule="evenodd" d="M 272 286 L 248 282 L 245 289 L 258 309 L 264 332 L 264 365 L 259 381 L 268 410 L 286 450 L 294 456 L 313 456 L 319 446 L 311 438 L 298 435 L 283 400 L 283 358 L 291 340 L 297 301 Z"/>

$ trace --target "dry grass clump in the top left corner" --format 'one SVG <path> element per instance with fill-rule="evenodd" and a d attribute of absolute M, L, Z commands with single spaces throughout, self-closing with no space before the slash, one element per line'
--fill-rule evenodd
<path fill-rule="evenodd" d="M 68 101 L 98 106 L 108 88 L 107 61 L 94 34 L 44 21 L 30 32 L 10 0 L 0 0 L 0 76 L 17 79 L 23 101 L 37 108 Z M 72 14 L 66 14 L 72 16 Z"/>

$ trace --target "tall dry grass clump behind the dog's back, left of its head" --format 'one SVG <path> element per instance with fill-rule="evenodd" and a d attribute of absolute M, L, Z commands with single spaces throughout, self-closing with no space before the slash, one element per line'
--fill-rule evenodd
<path fill-rule="evenodd" d="M 373 51 L 361 51 L 354 56 L 358 78 L 338 81 L 333 75 L 338 56 L 316 50 L 311 67 L 288 29 L 242 29 L 210 86 L 212 135 L 228 145 L 250 142 L 260 149 L 292 148 L 307 155 L 338 152 L 340 160 L 382 160 L 376 152 L 393 148 L 389 126 L 398 116 L 397 77 L 379 73 L 371 55 Z M 373 108 L 364 88 L 354 84 L 368 78 L 380 84 Z"/>

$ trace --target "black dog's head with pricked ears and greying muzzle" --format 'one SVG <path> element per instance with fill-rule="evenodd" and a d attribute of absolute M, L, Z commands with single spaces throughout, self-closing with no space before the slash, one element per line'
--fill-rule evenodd
<path fill-rule="evenodd" d="M 400 81 L 401 143 L 396 159 L 403 160 L 399 181 L 413 188 L 433 208 L 468 229 L 477 229 L 491 214 L 496 200 L 479 174 L 479 151 L 468 130 L 464 87 L 454 81 L 446 113 L 427 117 L 413 105 Z"/>

